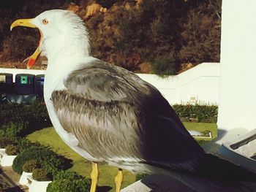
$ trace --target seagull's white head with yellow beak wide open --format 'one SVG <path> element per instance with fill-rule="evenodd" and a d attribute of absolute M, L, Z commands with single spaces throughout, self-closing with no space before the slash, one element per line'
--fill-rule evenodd
<path fill-rule="evenodd" d="M 41 39 L 33 55 L 29 57 L 28 68 L 34 64 L 39 53 L 48 60 L 56 58 L 85 58 L 89 56 L 89 35 L 83 21 L 75 13 L 53 9 L 42 12 L 36 18 L 15 20 L 15 26 L 39 28 Z"/>

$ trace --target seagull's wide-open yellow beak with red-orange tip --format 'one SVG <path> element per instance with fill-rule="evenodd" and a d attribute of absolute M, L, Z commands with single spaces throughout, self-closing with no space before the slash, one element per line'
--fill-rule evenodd
<path fill-rule="evenodd" d="M 12 28 L 15 28 L 16 26 L 25 26 L 25 27 L 30 27 L 30 28 L 37 28 L 37 26 L 35 26 L 33 23 L 31 23 L 31 20 L 33 20 L 33 19 L 18 19 L 18 20 L 15 20 L 12 23 L 12 25 L 10 27 L 10 30 L 12 31 Z M 29 60 L 28 63 L 26 64 L 27 69 L 31 69 L 31 67 L 34 66 L 34 64 L 36 63 L 37 58 L 41 53 L 41 50 L 39 48 L 41 43 L 42 43 L 42 33 L 40 31 L 40 41 L 39 41 L 39 45 L 37 47 L 37 50 L 35 50 L 32 55 L 30 55 L 28 58 L 26 58 L 24 60 L 24 61 Z"/>

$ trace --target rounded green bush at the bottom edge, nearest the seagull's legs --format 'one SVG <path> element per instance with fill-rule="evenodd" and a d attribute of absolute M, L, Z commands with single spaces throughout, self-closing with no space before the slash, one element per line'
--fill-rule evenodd
<path fill-rule="evenodd" d="M 82 192 L 90 191 L 91 181 L 76 172 L 61 171 L 48 185 L 47 192 Z"/>

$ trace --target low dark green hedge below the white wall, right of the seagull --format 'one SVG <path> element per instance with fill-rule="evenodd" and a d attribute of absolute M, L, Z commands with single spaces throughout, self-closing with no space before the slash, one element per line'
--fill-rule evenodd
<path fill-rule="evenodd" d="M 197 122 L 204 123 L 217 123 L 217 105 L 174 104 L 172 107 L 180 118 L 186 118 L 187 120 L 196 120 Z"/>

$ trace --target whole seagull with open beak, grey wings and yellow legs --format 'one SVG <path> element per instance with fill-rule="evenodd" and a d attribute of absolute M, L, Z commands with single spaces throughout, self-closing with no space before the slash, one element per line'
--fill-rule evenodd
<path fill-rule="evenodd" d="M 39 54 L 48 58 L 44 99 L 50 120 L 61 139 L 92 162 L 91 192 L 97 189 L 100 162 L 118 167 L 116 191 L 121 190 L 122 169 L 172 175 L 195 191 L 217 191 L 223 180 L 256 178 L 207 154 L 153 85 L 92 57 L 88 30 L 75 13 L 52 9 L 36 18 L 15 20 L 11 30 L 15 26 L 40 31 L 27 68 Z"/>

